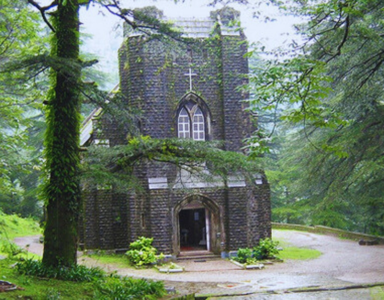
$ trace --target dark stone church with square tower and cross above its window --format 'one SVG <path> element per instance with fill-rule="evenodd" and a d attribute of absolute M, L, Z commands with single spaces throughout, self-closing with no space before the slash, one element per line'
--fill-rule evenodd
<path fill-rule="evenodd" d="M 163 17 L 154 7 L 146 9 Z M 206 19 L 173 21 L 188 42 L 164 43 L 126 28 L 119 87 L 127 107 L 140 111 L 140 134 L 223 140 L 225 150 L 241 150 L 254 128 L 244 111 L 248 94 L 238 89 L 248 73 L 238 19 L 236 10 L 225 8 Z M 114 146 L 126 143 L 128 134 L 99 108 L 85 120 L 81 143 Z M 263 174 L 255 174 L 252 182 L 233 175 L 212 183 L 154 162 L 141 163 L 134 173 L 139 191 L 85 191 L 80 229 L 85 248 L 126 249 L 144 235 L 153 237 L 163 253 L 220 253 L 251 247 L 271 235 L 270 191 Z"/>

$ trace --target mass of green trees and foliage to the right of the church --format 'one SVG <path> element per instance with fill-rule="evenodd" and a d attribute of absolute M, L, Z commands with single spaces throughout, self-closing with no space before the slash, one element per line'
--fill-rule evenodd
<path fill-rule="evenodd" d="M 249 148 L 267 153 L 273 220 L 384 234 L 384 2 L 280 3 L 306 20 L 304 44 L 250 78 L 262 134 Z"/>

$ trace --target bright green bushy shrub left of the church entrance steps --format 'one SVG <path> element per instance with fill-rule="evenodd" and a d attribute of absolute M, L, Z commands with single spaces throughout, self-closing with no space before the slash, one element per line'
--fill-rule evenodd
<path fill-rule="evenodd" d="M 129 245 L 125 253 L 128 260 L 136 265 L 143 266 L 155 263 L 158 260 L 157 249 L 152 246 L 153 238 L 141 236 Z"/>

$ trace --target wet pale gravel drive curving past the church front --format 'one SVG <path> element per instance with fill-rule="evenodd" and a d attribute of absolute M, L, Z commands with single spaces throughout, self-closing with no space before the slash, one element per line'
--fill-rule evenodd
<path fill-rule="evenodd" d="M 273 238 L 291 245 L 317 249 L 322 255 L 274 263 L 262 270 L 244 270 L 223 259 L 178 261 L 185 268 L 182 273 L 117 268 L 87 256 L 81 256 L 79 262 L 99 265 L 122 275 L 164 280 L 181 294 L 216 294 L 222 295 L 221 299 L 382 299 L 382 286 L 354 287 L 384 282 L 384 245 L 361 246 L 356 241 L 293 230 L 273 230 L 272 234 Z M 42 245 L 36 236 L 17 238 L 15 242 L 21 246 L 29 244 L 29 251 L 42 254 Z M 347 289 L 310 291 L 340 287 Z M 292 291 L 297 288 L 306 291 Z"/>

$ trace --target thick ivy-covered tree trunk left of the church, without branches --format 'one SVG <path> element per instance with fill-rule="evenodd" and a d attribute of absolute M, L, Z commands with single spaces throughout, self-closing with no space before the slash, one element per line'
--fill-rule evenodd
<path fill-rule="evenodd" d="M 77 262 L 77 223 L 81 209 L 78 10 L 78 0 L 59 0 L 53 16 L 52 54 L 63 59 L 64 64 L 54 71 L 47 103 L 47 219 L 43 254 L 43 263 L 47 266 Z"/>

